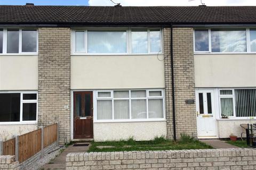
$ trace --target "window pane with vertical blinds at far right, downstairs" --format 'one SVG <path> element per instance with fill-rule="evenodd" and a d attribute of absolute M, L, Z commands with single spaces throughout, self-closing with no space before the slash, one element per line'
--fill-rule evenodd
<path fill-rule="evenodd" d="M 237 117 L 256 117 L 256 89 L 235 89 Z"/>

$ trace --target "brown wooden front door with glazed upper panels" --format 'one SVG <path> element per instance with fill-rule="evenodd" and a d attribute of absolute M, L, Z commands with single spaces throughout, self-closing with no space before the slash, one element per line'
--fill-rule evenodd
<path fill-rule="evenodd" d="M 93 138 L 92 91 L 74 92 L 74 139 Z"/>

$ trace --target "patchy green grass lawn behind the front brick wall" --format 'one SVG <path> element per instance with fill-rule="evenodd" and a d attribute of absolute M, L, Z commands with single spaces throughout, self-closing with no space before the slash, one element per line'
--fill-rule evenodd
<path fill-rule="evenodd" d="M 111 146 L 112 148 L 98 148 L 98 146 Z M 195 140 L 187 135 L 182 135 L 181 140 L 166 140 L 164 137 L 156 137 L 151 141 L 135 141 L 133 138 L 121 141 L 91 142 L 88 152 L 109 151 L 134 151 L 134 150 L 181 150 L 181 149 L 211 149 L 212 147 Z"/>

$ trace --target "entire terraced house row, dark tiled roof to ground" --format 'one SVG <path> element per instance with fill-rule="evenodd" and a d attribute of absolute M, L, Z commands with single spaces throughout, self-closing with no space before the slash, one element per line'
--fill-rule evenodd
<path fill-rule="evenodd" d="M 0 6 L 2 140 L 228 138 L 255 118 L 255 6 Z"/>

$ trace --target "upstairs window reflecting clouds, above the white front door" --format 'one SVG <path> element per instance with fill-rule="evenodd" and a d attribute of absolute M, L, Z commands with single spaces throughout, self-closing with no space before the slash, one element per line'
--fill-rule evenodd
<path fill-rule="evenodd" d="M 195 53 L 255 53 L 256 29 L 195 29 Z"/>

